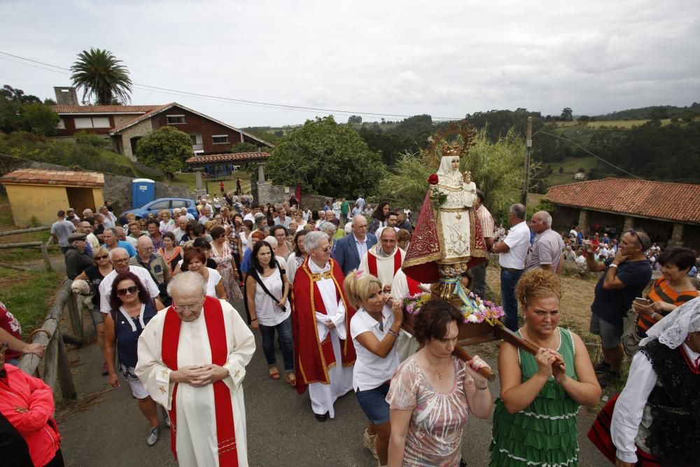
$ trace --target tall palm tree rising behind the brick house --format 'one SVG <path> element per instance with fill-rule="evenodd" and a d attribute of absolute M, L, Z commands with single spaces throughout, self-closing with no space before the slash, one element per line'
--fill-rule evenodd
<path fill-rule="evenodd" d="M 129 70 L 121 62 L 109 50 L 99 48 L 78 54 L 78 61 L 71 66 L 71 79 L 73 86 L 83 88 L 83 104 L 92 97 L 98 105 L 131 100 L 132 81 Z"/>

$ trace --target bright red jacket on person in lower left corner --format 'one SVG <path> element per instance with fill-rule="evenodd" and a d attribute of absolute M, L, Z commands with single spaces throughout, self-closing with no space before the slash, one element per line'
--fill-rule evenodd
<path fill-rule="evenodd" d="M 59 449 L 53 392 L 41 379 L 5 364 L 6 378 L 0 378 L 0 412 L 20 432 L 35 466 L 45 466 Z M 17 409 L 27 412 L 18 412 Z"/>

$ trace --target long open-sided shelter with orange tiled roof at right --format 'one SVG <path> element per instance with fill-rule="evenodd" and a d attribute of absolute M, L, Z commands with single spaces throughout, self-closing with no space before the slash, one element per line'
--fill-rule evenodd
<path fill-rule="evenodd" d="M 700 185 L 636 179 L 602 179 L 549 188 L 552 228 L 644 230 L 652 241 L 700 249 Z"/>

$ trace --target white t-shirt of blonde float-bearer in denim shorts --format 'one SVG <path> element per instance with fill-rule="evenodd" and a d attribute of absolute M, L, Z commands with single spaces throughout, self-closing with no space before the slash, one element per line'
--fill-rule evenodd
<path fill-rule="evenodd" d="M 356 339 L 358 335 L 369 331 L 381 342 L 384 336 L 388 334 L 388 330 L 394 321 L 391 309 L 386 306 L 381 310 L 381 317 L 384 330 L 379 330 L 379 323 L 365 312 L 365 309 L 362 307 L 357 310 L 350 320 L 350 335 L 357 355 L 352 375 L 352 386 L 355 391 L 367 391 L 367 389 L 381 386 L 381 384 L 391 379 L 396 368 L 398 368 L 396 346 L 392 347 L 386 358 L 381 358 L 362 347 L 362 344 Z"/>

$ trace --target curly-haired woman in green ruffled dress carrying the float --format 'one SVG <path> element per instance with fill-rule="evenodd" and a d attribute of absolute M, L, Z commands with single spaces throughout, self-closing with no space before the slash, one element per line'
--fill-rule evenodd
<path fill-rule="evenodd" d="M 588 351 L 559 328 L 559 278 L 546 270 L 523 274 L 515 288 L 525 326 L 518 335 L 538 347 L 534 356 L 500 346 L 500 398 L 493 412 L 490 466 L 578 465 L 576 415 L 596 405 L 601 387 Z"/>

